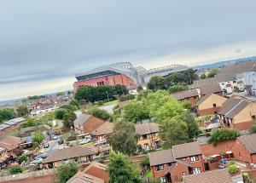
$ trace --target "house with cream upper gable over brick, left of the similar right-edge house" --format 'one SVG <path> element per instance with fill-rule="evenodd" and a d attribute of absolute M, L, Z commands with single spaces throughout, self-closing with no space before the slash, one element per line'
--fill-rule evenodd
<path fill-rule="evenodd" d="M 201 100 L 195 104 L 197 116 L 201 117 L 218 114 L 220 107 L 226 100 L 227 98 L 218 94 L 207 94 L 203 96 Z"/>

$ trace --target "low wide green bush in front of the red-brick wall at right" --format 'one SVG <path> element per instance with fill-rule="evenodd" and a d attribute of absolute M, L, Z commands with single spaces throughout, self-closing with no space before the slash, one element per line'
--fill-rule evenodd
<path fill-rule="evenodd" d="M 240 134 L 236 129 L 217 129 L 212 132 L 208 142 L 216 146 L 219 142 L 236 140 L 239 136 Z"/>

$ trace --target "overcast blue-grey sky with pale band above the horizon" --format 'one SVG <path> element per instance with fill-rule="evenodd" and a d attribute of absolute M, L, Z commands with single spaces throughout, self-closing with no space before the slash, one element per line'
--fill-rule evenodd
<path fill-rule="evenodd" d="M 72 89 L 120 61 L 153 68 L 256 55 L 255 0 L 0 0 L 0 100 Z"/>

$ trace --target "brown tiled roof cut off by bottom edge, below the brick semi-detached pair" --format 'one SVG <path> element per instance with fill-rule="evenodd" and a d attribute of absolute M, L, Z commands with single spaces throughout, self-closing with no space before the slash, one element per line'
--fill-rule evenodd
<path fill-rule="evenodd" d="M 228 169 L 207 171 L 183 176 L 183 183 L 233 183 Z"/>

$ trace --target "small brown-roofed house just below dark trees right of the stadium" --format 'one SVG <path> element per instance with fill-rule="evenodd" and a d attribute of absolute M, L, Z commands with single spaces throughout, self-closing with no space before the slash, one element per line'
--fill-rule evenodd
<path fill-rule="evenodd" d="M 184 90 L 176 93 L 172 93 L 172 96 L 180 101 L 190 101 L 192 106 L 195 105 L 197 100 L 200 98 L 200 94 L 198 89 L 189 89 L 189 90 Z"/>

